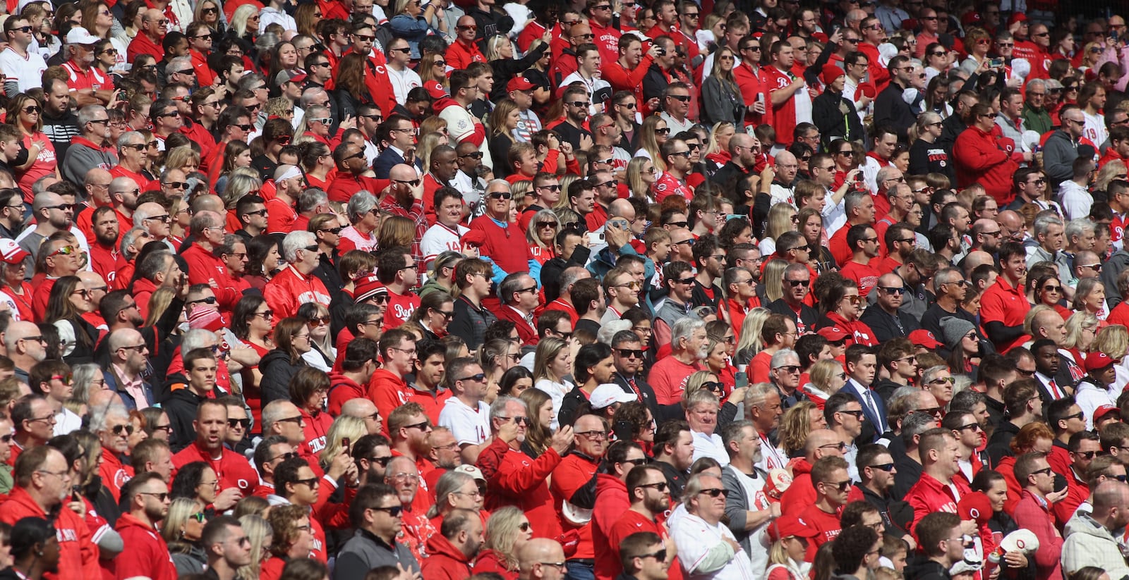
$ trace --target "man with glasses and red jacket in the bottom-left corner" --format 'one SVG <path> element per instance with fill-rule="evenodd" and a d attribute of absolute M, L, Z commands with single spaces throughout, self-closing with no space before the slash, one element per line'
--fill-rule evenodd
<path fill-rule="evenodd" d="M 63 454 L 46 446 L 28 449 L 16 459 L 12 476 L 16 485 L 8 501 L 0 503 L 0 521 L 11 526 L 23 518 L 47 519 L 52 515 L 59 541 L 59 570 L 44 573 L 44 580 L 102 578 L 98 546 L 78 513 L 85 506 L 70 501 L 72 480 Z"/>

